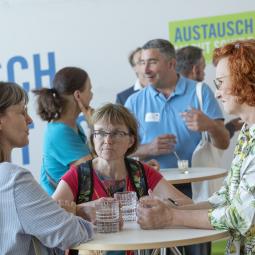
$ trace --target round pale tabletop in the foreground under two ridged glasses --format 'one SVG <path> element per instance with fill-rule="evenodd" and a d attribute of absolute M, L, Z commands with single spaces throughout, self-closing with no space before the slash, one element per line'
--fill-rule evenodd
<path fill-rule="evenodd" d="M 83 243 L 75 249 L 79 254 L 88 250 L 143 250 L 183 246 L 214 241 L 228 237 L 227 231 L 203 229 L 158 229 L 143 230 L 136 223 L 125 223 L 117 233 L 97 233 L 94 240 Z"/>

